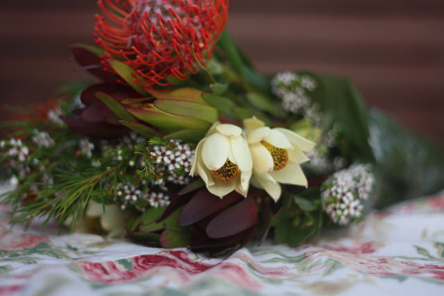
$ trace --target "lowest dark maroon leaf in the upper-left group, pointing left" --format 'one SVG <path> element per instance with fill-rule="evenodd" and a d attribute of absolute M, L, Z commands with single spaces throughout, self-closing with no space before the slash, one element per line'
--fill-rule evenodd
<path fill-rule="evenodd" d="M 76 134 L 96 139 L 114 139 L 130 132 L 124 126 L 87 122 L 83 121 L 79 116 L 60 116 L 60 119 Z"/>

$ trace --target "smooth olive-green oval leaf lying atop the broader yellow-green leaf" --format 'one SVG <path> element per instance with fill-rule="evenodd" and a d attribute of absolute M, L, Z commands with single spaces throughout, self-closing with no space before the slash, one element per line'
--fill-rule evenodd
<path fill-rule="evenodd" d="M 198 104 L 187 101 L 157 99 L 153 103 L 155 107 L 173 115 L 190 116 L 214 123 L 219 118 L 217 110 L 207 104 Z"/>

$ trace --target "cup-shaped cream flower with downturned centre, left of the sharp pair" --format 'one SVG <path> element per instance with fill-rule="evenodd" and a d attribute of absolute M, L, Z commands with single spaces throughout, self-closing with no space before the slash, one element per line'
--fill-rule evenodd
<path fill-rule="evenodd" d="M 223 198 L 235 190 L 246 196 L 253 161 L 239 126 L 216 122 L 196 147 L 190 175 L 196 173 L 208 191 Z"/>

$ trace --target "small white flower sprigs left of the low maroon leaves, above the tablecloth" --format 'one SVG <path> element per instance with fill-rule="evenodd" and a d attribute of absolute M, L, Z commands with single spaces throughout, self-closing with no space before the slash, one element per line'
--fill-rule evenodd
<path fill-rule="evenodd" d="M 144 211 L 146 207 L 164 207 L 170 202 L 169 195 L 160 191 L 146 189 L 146 182 L 141 184 L 127 184 L 119 183 L 116 200 L 119 202 L 122 210 L 125 210 L 129 205 L 135 207 L 139 211 Z"/>

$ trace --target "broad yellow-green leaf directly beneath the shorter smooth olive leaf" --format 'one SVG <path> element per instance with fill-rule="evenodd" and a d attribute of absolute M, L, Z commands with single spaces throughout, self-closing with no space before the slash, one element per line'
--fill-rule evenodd
<path fill-rule="evenodd" d="M 178 132 L 187 129 L 208 129 L 211 123 L 187 116 L 169 114 L 155 107 L 153 104 L 145 104 L 143 107 L 128 107 L 128 112 L 137 119 L 145 121 L 160 129 L 163 134 Z"/>

